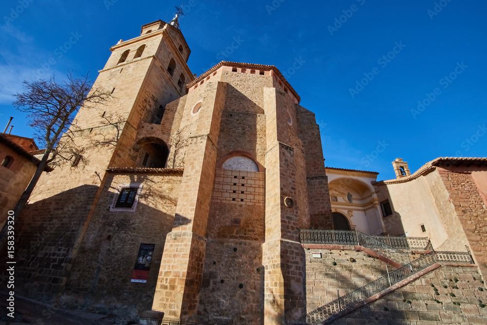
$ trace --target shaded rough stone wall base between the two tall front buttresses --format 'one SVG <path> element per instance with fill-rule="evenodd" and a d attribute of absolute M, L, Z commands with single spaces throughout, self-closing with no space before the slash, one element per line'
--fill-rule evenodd
<path fill-rule="evenodd" d="M 259 242 L 208 239 L 198 321 L 217 324 L 226 317 L 233 325 L 261 324 L 263 277 Z"/>

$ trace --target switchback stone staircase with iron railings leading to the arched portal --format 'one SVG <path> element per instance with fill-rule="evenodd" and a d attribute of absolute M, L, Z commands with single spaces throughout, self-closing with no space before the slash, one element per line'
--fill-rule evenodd
<path fill-rule="evenodd" d="M 301 320 L 309 325 L 331 324 L 441 267 L 439 263 L 474 264 L 469 252 L 434 251 L 427 237 L 368 236 L 358 231 L 303 229 L 300 240 L 302 244 L 353 245 L 371 249 L 386 262 L 393 261 L 398 266 L 387 275 L 311 311 Z M 403 250 L 426 251 L 426 254 L 410 261 L 409 254 Z"/>

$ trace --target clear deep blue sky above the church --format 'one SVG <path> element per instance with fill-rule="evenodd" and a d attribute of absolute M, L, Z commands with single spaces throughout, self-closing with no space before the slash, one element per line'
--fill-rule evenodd
<path fill-rule="evenodd" d="M 13 134 L 32 136 L 11 106 L 22 80 L 68 69 L 95 78 L 110 46 L 137 37 L 143 24 L 169 21 L 180 4 L 2 1 L 0 132 L 14 116 Z M 397 157 L 413 172 L 439 156 L 486 156 L 486 1 L 188 1 L 185 8 L 191 71 L 201 75 L 222 58 L 277 66 L 316 114 L 326 166 L 391 179 Z"/>

